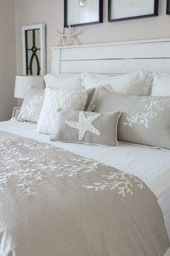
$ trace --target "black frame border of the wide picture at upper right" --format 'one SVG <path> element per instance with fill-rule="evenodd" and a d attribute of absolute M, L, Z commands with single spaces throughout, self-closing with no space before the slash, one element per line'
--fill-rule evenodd
<path fill-rule="evenodd" d="M 112 19 L 112 1 L 117 1 L 117 0 L 108 0 L 108 22 L 117 22 L 117 21 L 121 21 L 121 20 L 134 20 L 134 19 L 158 16 L 158 0 L 154 0 L 153 13 L 151 13 L 151 14 Z M 167 0 L 167 1 L 169 1 L 169 0 Z"/>

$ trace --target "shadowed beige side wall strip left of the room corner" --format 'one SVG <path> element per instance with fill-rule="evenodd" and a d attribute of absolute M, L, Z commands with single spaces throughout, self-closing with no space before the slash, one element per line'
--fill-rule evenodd
<path fill-rule="evenodd" d="M 0 0 L 0 121 L 12 116 L 15 72 L 14 0 Z"/>

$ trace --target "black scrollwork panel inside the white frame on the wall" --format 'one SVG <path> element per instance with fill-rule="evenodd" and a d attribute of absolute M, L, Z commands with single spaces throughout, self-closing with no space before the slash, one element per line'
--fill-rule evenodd
<path fill-rule="evenodd" d="M 25 30 L 26 74 L 40 75 L 40 29 Z"/>

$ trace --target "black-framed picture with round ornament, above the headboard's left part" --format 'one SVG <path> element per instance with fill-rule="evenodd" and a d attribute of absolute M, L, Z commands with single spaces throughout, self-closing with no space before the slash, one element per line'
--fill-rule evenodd
<path fill-rule="evenodd" d="M 64 27 L 103 21 L 103 0 L 64 0 Z"/>

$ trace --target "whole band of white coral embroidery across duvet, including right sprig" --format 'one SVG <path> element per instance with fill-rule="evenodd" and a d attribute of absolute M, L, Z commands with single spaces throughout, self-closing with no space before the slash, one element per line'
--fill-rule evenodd
<path fill-rule="evenodd" d="M 76 177 L 79 187 L 95 191 L 116 189 L 122 197 L 133 195 L 135 187 L 145 188 L 143 182 L 131 174 L 34 140 L 4 140 L 0 144 L 0 158 L 0 192 L 14 189 L 37 195 L 44 182 L 55 188 L 58 182 L 69 184 L 70 179 Z M 91 179 L 92 185 L 82 183 L 84 180 L 91 183 Z M 73 181 L 71 184 L 75 185 Z"/>

